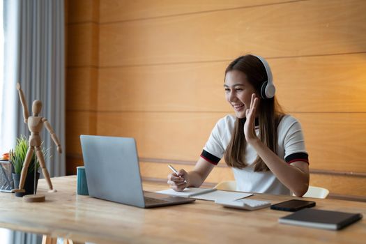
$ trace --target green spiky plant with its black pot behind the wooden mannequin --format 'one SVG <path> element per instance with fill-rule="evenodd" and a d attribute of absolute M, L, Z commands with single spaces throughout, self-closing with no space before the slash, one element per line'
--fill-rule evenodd
<path fill-rule="evenodd" d="M 14 188 L 19 188 L 20 183 L 20 175 L 22 173 L 24 160 L 26 157 L 26 152 L 28 151 L 29 144 L 28 139 L 23 135 L 20 138 L 17 138 L 17 142 L 15 144 L 15 148 L 13 151 L 10 151 L 10 162 L 13 164 L 13 181 Z M 43 155 L 48 153 L 48 150 L 43 149 Z M 38 179 L 40 177 L 40 173 L 38 172 L 39 162 L 35 157 L 35 152 L 31 157 L 31 162 L 29 163 L 28 171 L 26 174 L 26 179 L 24 181 L 24 190 L 25 192 L 15 192 L 17 197 L 22 197 L 23 195 L 30 195 L 37 191 Z M 34 171 L 36 170 L 36 190 L 34 189 Z"/>

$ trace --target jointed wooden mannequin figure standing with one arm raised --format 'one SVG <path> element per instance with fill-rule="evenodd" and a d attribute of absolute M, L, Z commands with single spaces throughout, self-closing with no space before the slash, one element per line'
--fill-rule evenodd
<path fill-rule="evenodd" d="M 59 153 L 62 153 L 61 144 L 60 144 L 57 136 L 54 134 L 54 130 L 52 129 L 52 126 L 49 124 L 47 119 L 40 116 L 40 110 L 42 109 L 42 102 L 40 100 L 33 101 L 33 106 L 32 106 L 33 116 L 29 116 L 28 106 L 26 105 L 24 93 L 23 93 L 19 83 L 17 83 L 17 90 L 19 93 L 20 102 L 22 102 L 22 106 L 23 106 L 24 123 L 28 124 L 28 128 L 29 128 L 29 131 L 31 132 L 31 135 L 29 136 L 29 148 L 28 148 L 28 151 L 26 152 L 26 157 L 24 160 L 22 174 L 20 175 L 19 189 L 13 189 L 12 192 L 24 192 L 24 189 L 23 189 L 24 181 L 26 179 L 26 174 L 28 172 L 29 163 L 31 162 L 31 158 L 34 153 L 34 150 L 36 150 L 36 156 L 38 158 L 38 161 L 40 162 L 40 167 L 42 168 L 43 176 L 45 176 L 45 180 L 47 181 L 47 185 L 49 187 L 49 192 L 56 192 L 56 190 L 54 190 L 52 187 L 51 179 L 49 178 L 49 174 L 48 174 L 47 168 L 45 166 L 45 158 L 44 158 L 43 152 L 40 148 L 40 144 L 42 143 L 42 141 L 40 139 L 40 130 L 42 130 L 43 124 L 45 125 L 45 128 L 48 130 L 48 132 L 51 134 L 51 138 L 54 141 L 54 144 L 56 144 L 57 151 Z M 35 169 L 36 169 L 36 167 L 35 167 Z M 45 197 L 43 196 L 43 201 L 44 201 L 44 198 Z"/>

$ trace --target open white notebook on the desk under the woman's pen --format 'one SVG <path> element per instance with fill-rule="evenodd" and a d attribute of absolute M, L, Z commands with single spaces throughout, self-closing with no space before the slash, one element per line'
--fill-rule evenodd
<path fill-rule="evenodd" d="M 251 193 L 245 192 L 227 192 L 224 190 L 217 190 L 215 188 L 185 188 L 182 192 L 176 192 L 175 190 L 160 190 L 157 193 L 179 196 L 179 197 L 191 197 L 195 199 L 215 201 L 217 199 L 234 201 L 244 197 L 252 196 Z"/>

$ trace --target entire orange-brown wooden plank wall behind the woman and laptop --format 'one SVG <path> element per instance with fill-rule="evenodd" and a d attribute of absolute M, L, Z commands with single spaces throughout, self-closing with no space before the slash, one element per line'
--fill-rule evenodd
<path fill-rule="evenodd" d="M 365 177 L 337 173 L 366 172 L 365 1 L 82 0 L 68 10 L 68 172 L 80 134 L 135 137 L 145 178 L 165 180 L 169 160 L 192 168 L 231 112 L 224 68 L 250 52 L 268 59 L 277 98 L 303 124 L 311 169 L 336 172 L 312 174 L 312 185 L 365 195 Z"/>

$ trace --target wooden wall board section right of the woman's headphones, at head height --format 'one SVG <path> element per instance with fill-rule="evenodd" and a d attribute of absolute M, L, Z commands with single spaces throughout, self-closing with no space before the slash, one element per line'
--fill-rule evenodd
<path fill-rule="evenodd" d="M 289 112 L 366 112 L 366 53 L 269 60 Z"/>

